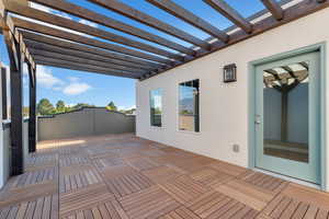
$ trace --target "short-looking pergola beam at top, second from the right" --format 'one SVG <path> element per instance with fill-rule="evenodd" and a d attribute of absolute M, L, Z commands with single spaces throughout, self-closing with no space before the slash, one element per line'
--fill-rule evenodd
<path fill-rule="evenodd" d="M 213 9 L 222 13 L 237 26 L 242 28 L 246 33 L 250 34 L 252 32 L 252 24 L 243 19 L 234 8 L 228 5 L 224 0 L 203 0 L 209 4 Z"/>

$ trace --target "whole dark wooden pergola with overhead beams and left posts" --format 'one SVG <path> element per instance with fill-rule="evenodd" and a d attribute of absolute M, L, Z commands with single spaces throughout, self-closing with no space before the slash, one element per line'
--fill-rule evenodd
<path fill-rule="evenodd" d="M 146 0 L 212 36 L 208 39 L 201 39 L 188 31 L 160 21 L 121 1 L 87 0 L 193 45 L 193 47 L 186 47 L 66 0 L 30 1 L 120 31 L 125 35 L 139 37 L 144 39 L 143 42 L 150 44 L 31 8 L 27 0 L 0 0 L 1 26 L 11 67 L 13 175 L 23 172 L 22 64 L 24 61 L 29 66 L 31 79 L 29 136 L 30 152 L 34 152 L 36 65 L 145 80 L 329 7 L 327 0 L 282 0 L 280 2 L 261 0 L 265 10 L 245 19 L 224 0 L 203 0 L 234 23 L 234 26 L 227 30 L 219 30 L 206 18 L 197 16 L 173 0 Z M 249 2 L 243 1 L 243 3 L 247 5 Z M 291 5 L 286 7 L 288 3 Z M 69 33 L 14 14 L 93 37 Z"/>

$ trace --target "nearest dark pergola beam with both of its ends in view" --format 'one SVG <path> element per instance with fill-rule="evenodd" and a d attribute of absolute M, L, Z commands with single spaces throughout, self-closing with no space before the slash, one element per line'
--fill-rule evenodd
<path fill-rule="evenodd" d="M 151 61 L 166 64 L 166 65 L 172 65 L 172 61 L 169 60 L 169 59 L 164 59 L 164 58 L 161 58 L 161 57 L 158 57 L 158 56 L 141 53 L 141 51 L 138 51 L 138 50 L 135 50 L 135 49 L 129 49 L 129 48 L 122 47 L 122 46 L 118 46 L 118 45 L 115 45 L 115 44 L 100 42 L 100 41 L 97 41 L 94 38 L 89 38 L 89 37 L 86 37 L 86 36 L 79 35 L 79 34 L 69 33 L 69 32 L 61 31 L 61 30 L 58 30 L 58 28 L 53 28 L 50 26 L 37 24 L 37 23 L 30 22 L 30 21 L 26 21 L 26 20 L 23 20 L 23 19 L 19 19 L 19 18 L 12 18 L 12 20 L 13 20 L 15 26 L 24 28 L 24 30 L 29 30 L 29 31 L 41 33 L 41 34 L 55 36 L 55 37 L 58 37 L 58 38 L 72 41 L 72 42 L 76 42 L 76 43 L 79 43 L 79 44 L 86 44 L 86 45 L 89 45 L 89 46 L 94 46 L 94 47 L 116 51 L 118 54 L 125 54 L 125 55 L 138 57 L 138 58 L 146 59 L 146 60 L 151 60 Z"/>

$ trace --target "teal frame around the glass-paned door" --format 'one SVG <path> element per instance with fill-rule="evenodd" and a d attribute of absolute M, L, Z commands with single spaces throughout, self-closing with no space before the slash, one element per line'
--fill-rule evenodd
<path fill-rule="evenodd" d="M 327 103 L 327 94 L 326 94 L 326 42 L 306 46 L 303 48 L 290 50 L 286 53 L 281 53 L 274 56 L 270 56 L 266 58 L 258 59 L 254 61 L 250 61 L 248 64 L 248 152 L 249 152 L 249 168 L 256 168 L 256 67 L 259 65 L 264 65 L 272 61 L 277 61 L 281 59 L 291 58 L 294 56 L 299 56 L 303 54 L 308 54 L 311 51 L 320 53 L 320 173 L 321 173 L 321 182 L 320 188 L 322 191 L 327 189 L 327 137 L 326 137 L 326 103 Z"/>

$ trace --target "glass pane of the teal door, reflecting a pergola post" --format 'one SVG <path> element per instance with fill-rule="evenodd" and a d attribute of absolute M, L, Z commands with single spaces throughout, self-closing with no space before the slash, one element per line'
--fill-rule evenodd
<path fill-rule="evenodd" d="M 263 153 L 306 162 L 308 141 L 307 61 L 263 71 Z"/>

